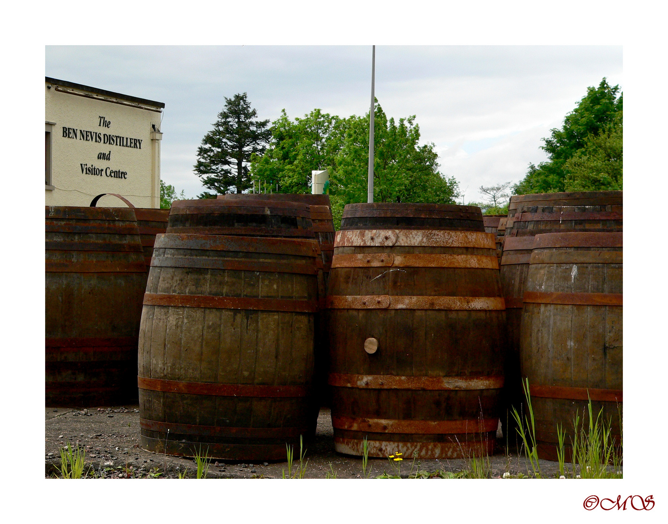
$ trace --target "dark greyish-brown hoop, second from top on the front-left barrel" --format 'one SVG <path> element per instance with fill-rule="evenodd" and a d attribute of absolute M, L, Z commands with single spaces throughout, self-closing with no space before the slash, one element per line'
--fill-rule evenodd
<path fill-rule="evenodd" d="M 153 257 L 151 267 L 183 267 L 187 269 L 225 269 L 233 271 L 262 271 L 264 273 L 295 273 L 316 275 L 318 267 L 314 259 L 309 263 L 264 262 L 244 259 L 210 259 L 195 257 Z"/>

